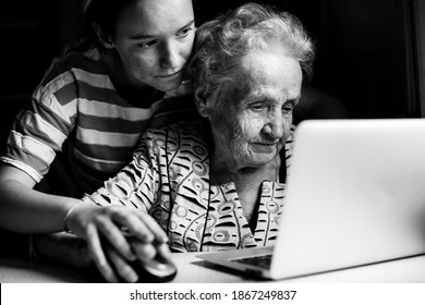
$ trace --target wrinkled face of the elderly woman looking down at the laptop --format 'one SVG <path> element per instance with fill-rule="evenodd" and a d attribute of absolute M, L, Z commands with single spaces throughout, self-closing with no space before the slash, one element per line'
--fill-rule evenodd
<path fill-rule="evenodd" d="M 255 51 L 242 61 L 243 84 L 210 115 L 216 156 L 234 170 L 276 159 L 292 124 L 301 91 L 299 62 L 281 48 Z"/>

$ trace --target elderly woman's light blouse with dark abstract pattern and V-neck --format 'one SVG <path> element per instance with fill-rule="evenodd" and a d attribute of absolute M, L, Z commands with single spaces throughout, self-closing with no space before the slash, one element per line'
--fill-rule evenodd
<path fill-rule="evenodd" d="M 292 134 L 293 130 L 284 148 L 287 169 Z M 283 209 L 284 184 L 263 182 L 252 231 L 234 183 L 209 184 L 209 124 L 204 121 L 148 130 L 133 161 L 83 199 L 148 211 L 177 252 L 272 245 Z"/>

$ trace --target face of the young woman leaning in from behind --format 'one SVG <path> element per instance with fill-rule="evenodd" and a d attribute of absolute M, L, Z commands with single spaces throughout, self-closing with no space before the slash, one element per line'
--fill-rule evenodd
<path fill-rule="evenodd" d="M 192 0 L 137 0 L 119 14 L 112 37 L 134 87 L 177 88 L 195 37 Z"/>

